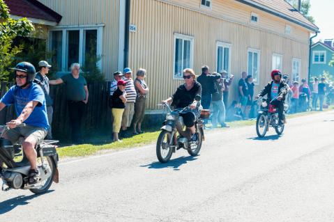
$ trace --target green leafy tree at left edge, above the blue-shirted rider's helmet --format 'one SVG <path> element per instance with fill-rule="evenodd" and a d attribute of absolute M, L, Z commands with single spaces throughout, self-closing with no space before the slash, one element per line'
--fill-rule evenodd
<path fill-rule="evenodd" d="M 17 36 L 27 36 L 34 30 L 28 19 L 10 18 L 8 6 L 0 0 L 0 81 L 8 81 L 8 68 L 15 55 L 23 49 L 22 45 L 13 46 L 13 40 Z"/>

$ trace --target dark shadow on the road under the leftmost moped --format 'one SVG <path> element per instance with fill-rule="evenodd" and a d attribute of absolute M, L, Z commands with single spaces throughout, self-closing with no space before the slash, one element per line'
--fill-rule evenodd
<path fill-rule="evenodd" d="M 47 193 L 51 193 L 51 191 L 47 191 Z M 44 193 L 45 194 L 45 193 Z M 5 200 L 0 203 L 0 215 L 5 214 L 7 212 L 10 212 L 11 210 L 15 209 L 17 206 L 22 206 L 22 205 L 28 205 L 29 202 L 28 200 L 32 200 L 33 198 L 37 198 L 38 196 L 43 195 L 43 194 L 33 194 L 31 196 L 17 196 L 15 198 L 11 198 L 9 200 Z"/>

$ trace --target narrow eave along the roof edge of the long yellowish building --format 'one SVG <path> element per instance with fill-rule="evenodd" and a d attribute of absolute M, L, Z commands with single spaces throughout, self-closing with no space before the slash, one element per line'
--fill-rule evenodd
<path fill-rule="evenodd" d="M 258 8 L 259 10 L 263 10 L 266 13 L 271 13 L 272 15 L 276 15 L 278 17 L 281 17 L 282 19 L 286 19 L 289 22 L 294 22 L 295 24 L 303 26 L 304 28 L 308 29 L 309 31 L 313 31 L 314 33 L 319 32 L 319 28 L 318 27 L 314 27 L 315 25 L 314 26 L 310 26 L 309 24 L 305 24 L 304 22 L 301 22 L 298 19 L 294 19 L 292 17 L 289 17 L 289 16 L 287 16 L 287 15 L 285 15 L 283 13 L 280 13 L 280 12 L 278 12 L 276 10 L 273 10 L 271 8 L 263 6 L 263 5 L 259 4 L 259 3 L 256 3 L 256 2 L 253 2 L 253 1 L 250 1 L 250 0 L 236 0 L 236 1 L 239 1 L 241 3 L 245 3 L 248 6 L 252 6 L 252 7 Z"/>

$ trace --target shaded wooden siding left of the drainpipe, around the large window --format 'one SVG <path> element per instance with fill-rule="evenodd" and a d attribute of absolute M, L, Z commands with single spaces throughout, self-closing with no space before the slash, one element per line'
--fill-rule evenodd
<path fill-rule="evenodd" d="M 59 25 L 104 24 L 103 73 L 107 79 L 117 70 L 119 53 L 119 0 L 40 0 L 63 16 Z"/>

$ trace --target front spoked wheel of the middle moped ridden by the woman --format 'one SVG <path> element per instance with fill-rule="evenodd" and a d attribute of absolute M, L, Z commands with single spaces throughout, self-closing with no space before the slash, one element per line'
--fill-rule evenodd
<path fill-rule="evenodd" d="M 157 141 L 157 157 L 161 163 L 167 163 L 172 157 L 172 148 L 169 145 L 169 142 L 172 140 L 171 134 L 165 130 L 160 132 L 158 141 Z"/>

